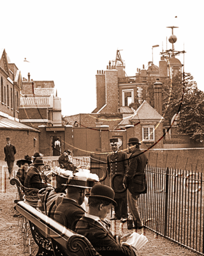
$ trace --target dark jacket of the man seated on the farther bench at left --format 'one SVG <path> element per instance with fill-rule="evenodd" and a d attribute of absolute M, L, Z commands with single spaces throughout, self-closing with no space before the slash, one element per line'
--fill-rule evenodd
<path fill-rule="evenodd" d="M 27 171 L 24 186 L 25 188 L 42 189 L 47 188 L 48 185 L 46 183 L 42 183 L 38 169 L 36 169 L 34 166 L 31 166 Z"/>

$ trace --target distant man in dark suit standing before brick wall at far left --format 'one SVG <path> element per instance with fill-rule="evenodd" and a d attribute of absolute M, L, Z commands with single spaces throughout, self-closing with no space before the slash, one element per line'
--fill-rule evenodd
<path fill-rule="evenodd" d="M 17 153 L 17 150 L 15 149 L 14 145 L 11 145 L 11 141 L 9 137 L 6 137 L 6 146 L 4 147 L 4 154 L 5 159 L 4 161 L 7 163 L 8 166 L 8 179 L 11 178 L 12 172 L 13 172 L 13 163 L 15 161 L 14 155 Z"/>

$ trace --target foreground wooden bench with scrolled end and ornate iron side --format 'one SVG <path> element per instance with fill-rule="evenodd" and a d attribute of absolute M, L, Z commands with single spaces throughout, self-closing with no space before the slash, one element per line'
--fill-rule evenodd
<path fill-rule="evenodd" d="M 57 223 L 25 202 L 18 202 L 17 211 L 27 220 L 38 245 L 36 256 L 99 255 L 89 240 Z"/>

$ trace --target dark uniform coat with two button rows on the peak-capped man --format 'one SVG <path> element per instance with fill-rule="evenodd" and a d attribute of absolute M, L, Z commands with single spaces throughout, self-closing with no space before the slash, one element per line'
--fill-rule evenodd
<path fill-rule="evenodd" d="M 122 191 L 124 186 L 122 180 L 124 174 L 128 169 L 128 154 L 123 151 L 117 153 L 110 153 L 107 157 L 108 174 L 112 177 L 112 189 L 115 191 L 115 198 L 123 198 L 126 196 L 126 192 L 117 193 L 116 191 Z M 116 175 L 121 173 L 122 175 Z"/>

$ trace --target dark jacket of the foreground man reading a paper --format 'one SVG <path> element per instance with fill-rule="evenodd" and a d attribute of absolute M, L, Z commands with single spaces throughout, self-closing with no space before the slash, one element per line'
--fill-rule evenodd
<path fill-rule="evenodd" d="M 108 232 L 105 228 L 98 223 L 98 221 L 92 220 L 83 216 L 77 223 L 75 232 L 87 237 L 92 246 L 100 255 L 112 255 L 112 256 L 135 256 L 135 252 L 131 246 L 120 245 L 116 243 L 111 232 Z"/>

